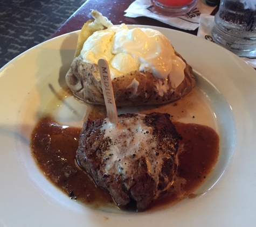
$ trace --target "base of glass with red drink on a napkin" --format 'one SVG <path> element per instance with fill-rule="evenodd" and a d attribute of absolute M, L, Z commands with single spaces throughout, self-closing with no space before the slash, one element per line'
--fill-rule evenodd
<path fill-rule="evenodd" d="M 196 8 L 197 0 L 151 0 L 151 3 L 158 13 L 177 17 Z"/>

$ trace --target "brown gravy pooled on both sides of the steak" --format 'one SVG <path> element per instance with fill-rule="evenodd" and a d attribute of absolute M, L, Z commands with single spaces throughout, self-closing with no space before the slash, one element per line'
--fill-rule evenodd
<path fill-rule="evenodd" d="M 174 204 L 205 181 L 218 159 L 218 134 L 210 127 L 175 123 L 181 134 L 177 178 L 172 187 L 151 208 Z M 31 135 L 31 150 L 37 165 L 70 198 L 94 208 L 113 207 L 112 197 L 96 187 L 93 180 L 75 164 L 80 128 L 60 125 L 51 117 L 41 118 Z"/>

